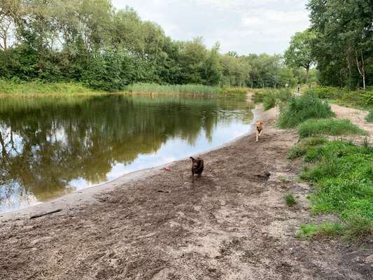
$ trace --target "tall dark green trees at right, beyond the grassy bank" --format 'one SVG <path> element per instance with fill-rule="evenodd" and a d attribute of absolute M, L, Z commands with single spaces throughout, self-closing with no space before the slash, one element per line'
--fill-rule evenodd
<path fill-rule="evenodd" d="M 373 85 L 373 1 L 310 0 L 307 8 L 311 27 L 293 36 L 287 64 L 316 65 L 322 85 Z"/>

